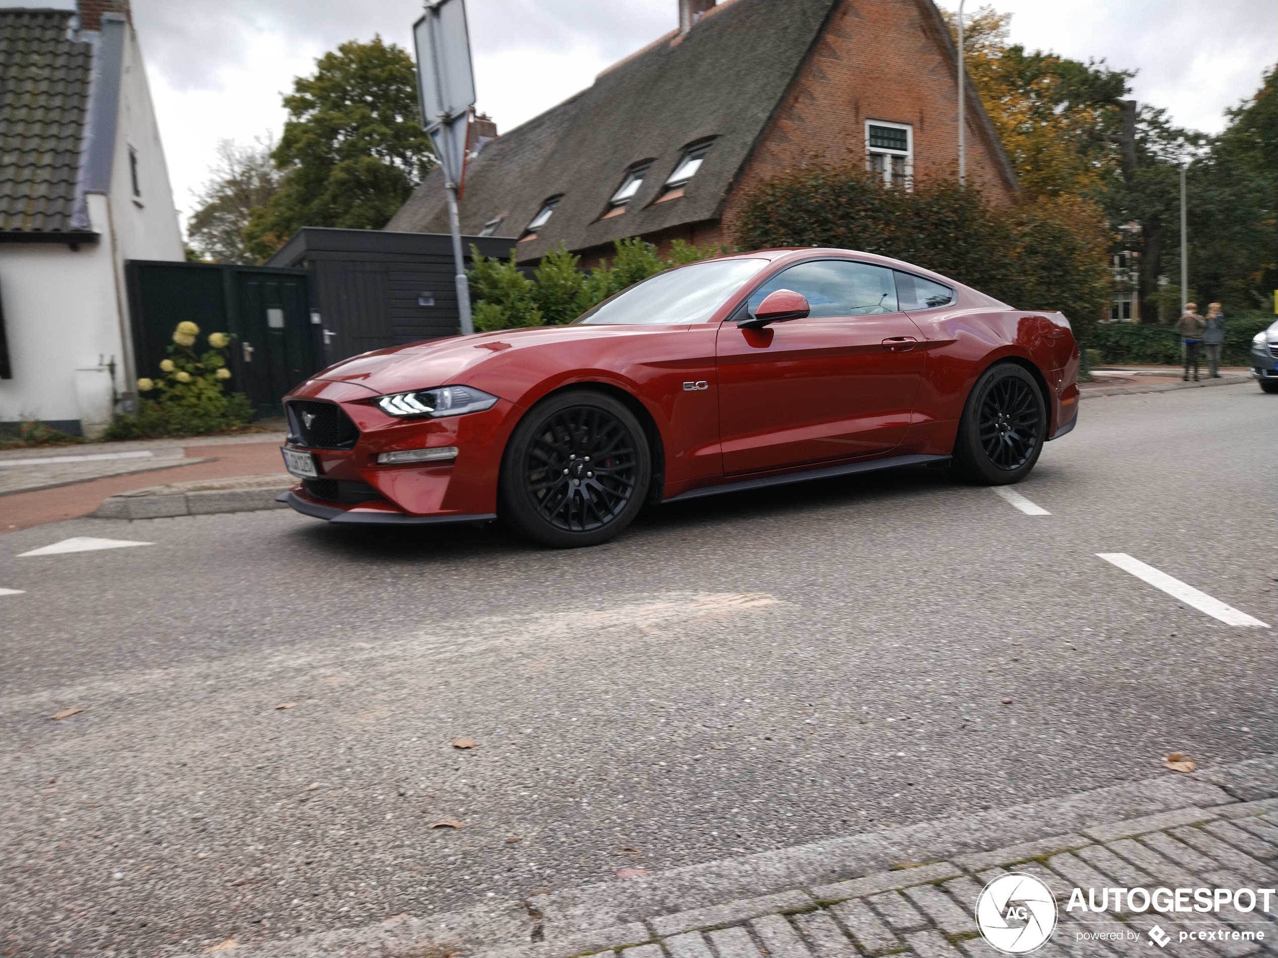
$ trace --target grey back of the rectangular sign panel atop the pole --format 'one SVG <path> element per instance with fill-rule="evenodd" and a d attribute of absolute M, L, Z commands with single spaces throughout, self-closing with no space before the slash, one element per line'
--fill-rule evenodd
<path fill-rule="evenodd" d="M 465 114 L 475 105 L 465 0 L 427 3 L 426 14 L 413 24 L 413 43 L 427 129 Z"/>

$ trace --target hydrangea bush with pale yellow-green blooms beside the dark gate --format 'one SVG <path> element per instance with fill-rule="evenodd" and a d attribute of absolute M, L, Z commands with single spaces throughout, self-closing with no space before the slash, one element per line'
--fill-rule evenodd
<path fill-rule="evenodd" d="M 231 378 L 226 365 L 231 336 L 215 332 L 208 349 L 196 353 L 199 327 L 178 323 L 167 359 L 160 363 L 160 376 L 138 379 L 144 397 L 137 415 L 116 414 L 106 428 L 106 439 L 150 439 L 158 436 L 204 436 L 253 422 L 253 404 L 242 392 L 226 395 Z"/>

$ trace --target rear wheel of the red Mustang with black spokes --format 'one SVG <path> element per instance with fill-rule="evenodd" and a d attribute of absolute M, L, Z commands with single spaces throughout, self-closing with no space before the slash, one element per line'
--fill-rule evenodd
<path fill-rule="evenodd" d="M 976 379 L 958 420 L 955 473 L 978 485 L 1019 483 L 1038 462 L 1047 428 L 1034 377 L 1016 363 L 993 365 Z"/>

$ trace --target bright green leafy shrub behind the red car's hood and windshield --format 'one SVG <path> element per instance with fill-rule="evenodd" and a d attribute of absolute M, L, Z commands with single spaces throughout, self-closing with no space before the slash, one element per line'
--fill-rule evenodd
<path fill-rule="evenodd" d="M 656 245 L 638 236 L 615 240 L 612 245 L 616 250 L 612 259 L 602 259 L 589 272 L 583 272 L 578 268 L 581 257 L 560 244 L 542 257 L 532 278 L 515 266 L 514 249 L 510 250 L 510 259 L 497 259 L 486 257 L 472 247 L 473 268 L 468 276 L 475 298 L 475 328 L 491 332 L 521 326 L 570 323 L 596 303 L 602 303 L 626 286 L 674 266 L 695 263 L 721 252 L 675 240 L 663 258 Z"/>

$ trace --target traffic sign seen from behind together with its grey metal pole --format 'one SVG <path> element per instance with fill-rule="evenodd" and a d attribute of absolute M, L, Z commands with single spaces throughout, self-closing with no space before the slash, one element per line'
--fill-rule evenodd
<path fill-rule="evenodd" d="M 470 321 L 470 287 L 458 217 L 458 189 L 466 160 L 466 128 L 475 105 L 465 0 L 427 0 L 426 14 L 413 24 L 413 46 L 417 50 L 417 95 L 422 101 L 422 123 L 443 167 L 452 259 L 458 270 L 458 314 L 463 335 L 469 335 L 474 332 L 474 324 Z"/>

